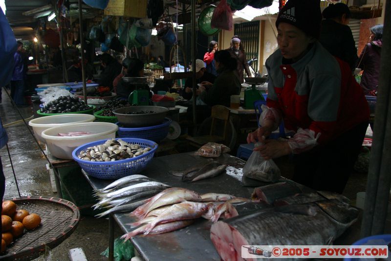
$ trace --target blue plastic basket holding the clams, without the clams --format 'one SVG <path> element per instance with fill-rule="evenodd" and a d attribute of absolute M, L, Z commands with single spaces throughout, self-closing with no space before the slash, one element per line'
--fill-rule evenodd
<path fill-rule="evenodd" d="M 116 139 L 118 140 L 118 139 Z M 108 162 L 90 162 L 84 161 L 77 157 L 80 151 L 86 150 L 87 147 L 101 145 L 107 140 L 100 140 L 96 142 L 89 142 L 75 148 L 72 152 L 73 159 L 79 164 L 79 166 L 86 171 L 86 173 L 94 178 L 98 179 L 118 179 L 129 175 L 140 173 L 152 160 L 153 154 L 157 149 L 156 142 L 152 142 L 145 139 L 133 139 L 133 138 L 122 138 L 124 142 L 134 143 L 141 146 L 141 148 L 151 147 L 151 150 L 140 156 L 134 158 L 128 158 L 119 161 L 108 161 Z"/>

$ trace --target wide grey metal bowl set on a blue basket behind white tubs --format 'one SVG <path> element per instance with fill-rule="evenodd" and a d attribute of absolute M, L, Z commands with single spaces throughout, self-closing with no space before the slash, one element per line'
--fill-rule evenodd
<path fill-rule="evenodd" d="M 147 114 L 129 114 L 132 112 L 153 111 Z M 113 110 L 119 123 L 124 127 L 148 127 L 159 125 L 164 121 L 169 109 L 160 106 L 131 106 Z"/>

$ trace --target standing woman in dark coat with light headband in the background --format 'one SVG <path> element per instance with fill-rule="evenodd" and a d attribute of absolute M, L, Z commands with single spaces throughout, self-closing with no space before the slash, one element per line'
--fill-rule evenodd
<path fill-rule="evenodd" d="M 233 58 L 235 58 L 238 61 L 237 69 L 235 73 L 237 74 L 240 83 L 243 83 L 244 82 L 243 70 L 246 71 L 248 77 L 251 77 L 251 72 L 250 69 L 248 68 L 246 53 L 244 52 L 244 49 L 240 44 L 239 36 L 234 35 L 234 37 L 231 40 L 231 44 L 232 46 L 229 49 L 227 49 L 227 51 L 231 54 Z"/>

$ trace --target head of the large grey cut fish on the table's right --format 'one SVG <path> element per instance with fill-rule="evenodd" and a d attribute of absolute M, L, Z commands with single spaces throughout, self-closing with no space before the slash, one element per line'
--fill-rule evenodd
<path fill-rule="evenodd" d="M 317 204 L 328 216 L 342 225 L 350 225 L 356 221 L 358 209 L 337 199 L 318 201 Z"/>

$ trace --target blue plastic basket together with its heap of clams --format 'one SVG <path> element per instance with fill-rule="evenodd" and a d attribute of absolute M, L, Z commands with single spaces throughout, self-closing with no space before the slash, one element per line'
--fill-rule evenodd
<path fill-rule="evenodd" d="M 89 142 L 73 150 L 72 157 L 89 176 L 118 179 L 140 173 L 152 160 L 157 143 L 120 138 Z"/>

